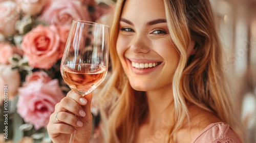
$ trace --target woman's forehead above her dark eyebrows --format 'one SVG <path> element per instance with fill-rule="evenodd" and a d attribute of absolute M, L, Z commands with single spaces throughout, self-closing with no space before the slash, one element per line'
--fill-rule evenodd
<path fill-rule="evenodd" d="M 163 0 L 126 0 L 121 17 L 140 20 L 165 18 Z"/>

